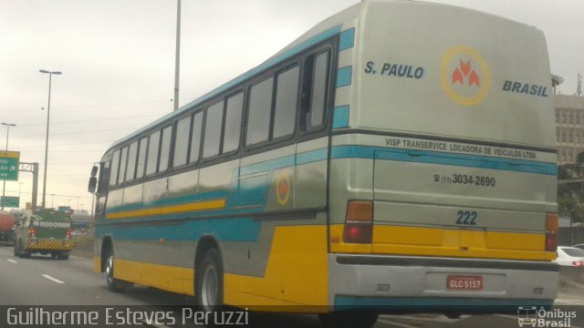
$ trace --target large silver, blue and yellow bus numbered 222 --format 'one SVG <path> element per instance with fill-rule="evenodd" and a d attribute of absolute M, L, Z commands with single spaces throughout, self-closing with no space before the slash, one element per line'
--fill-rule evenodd
<path fill-rule="evenodd" d="M 105 152 L 95 271 L 363 327 L 550 305 L 550 85 L 535 27 L 361 1 Z"/>

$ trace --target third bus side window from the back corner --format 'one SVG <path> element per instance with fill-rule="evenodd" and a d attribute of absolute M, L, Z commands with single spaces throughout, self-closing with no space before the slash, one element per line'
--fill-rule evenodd
<path fill-rule="evenodd" d="M 273 87 L 274 77 L 270 77 L 252 87 L 249 96 L 245 145 L 266 141 L 269 137 Z"/>

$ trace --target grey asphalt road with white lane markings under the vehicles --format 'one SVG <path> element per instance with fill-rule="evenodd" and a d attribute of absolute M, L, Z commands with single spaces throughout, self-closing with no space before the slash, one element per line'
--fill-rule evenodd
<path fill-rule="evenodd" d="M 110 292 L 103 274 L 93 272 L 89 259 L 71 256 L 69 261 L 51 260 L 49 256 L 33 255 L 31 259 L 13 256 L 12 248 L 0 247 L 0 306 L 2 305 L 146 305 L 152 308 L 176 306 L 180 315 L 183 306 L 193 299 L 171 292 L 134 286 L 125 292 Z M 578 317 L 571 327 L 584 327 L 584 292 L 562 290 L 556 302 L 566 311 L 576 311 Z M 1 316 L 0 316 L 1 317 Z M 189 326 L 194 324 L 189 322 Z M 257 327 L 314 327 L 315 315 L 258 314 L 249 315 L 249 326 Z M 0 326 L 3 324 L 0 323 Z M 163 327 L 164 325 L 154 325 Z M 375 328 L 506 328 L 518 327 L 516 315 L 475 315 L 448 319 L 440 314 L 381 315 Z"/>

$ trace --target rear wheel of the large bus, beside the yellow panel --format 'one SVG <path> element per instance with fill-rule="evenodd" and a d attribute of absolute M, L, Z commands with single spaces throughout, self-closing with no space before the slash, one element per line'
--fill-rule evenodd
<path fill-rule="evenodd" d="M 223 268 L 219 252 L 205 252 L 200 269 L 196 269 L 197 302 L 204 312 L 217 311 L 223 304 Z"/>

